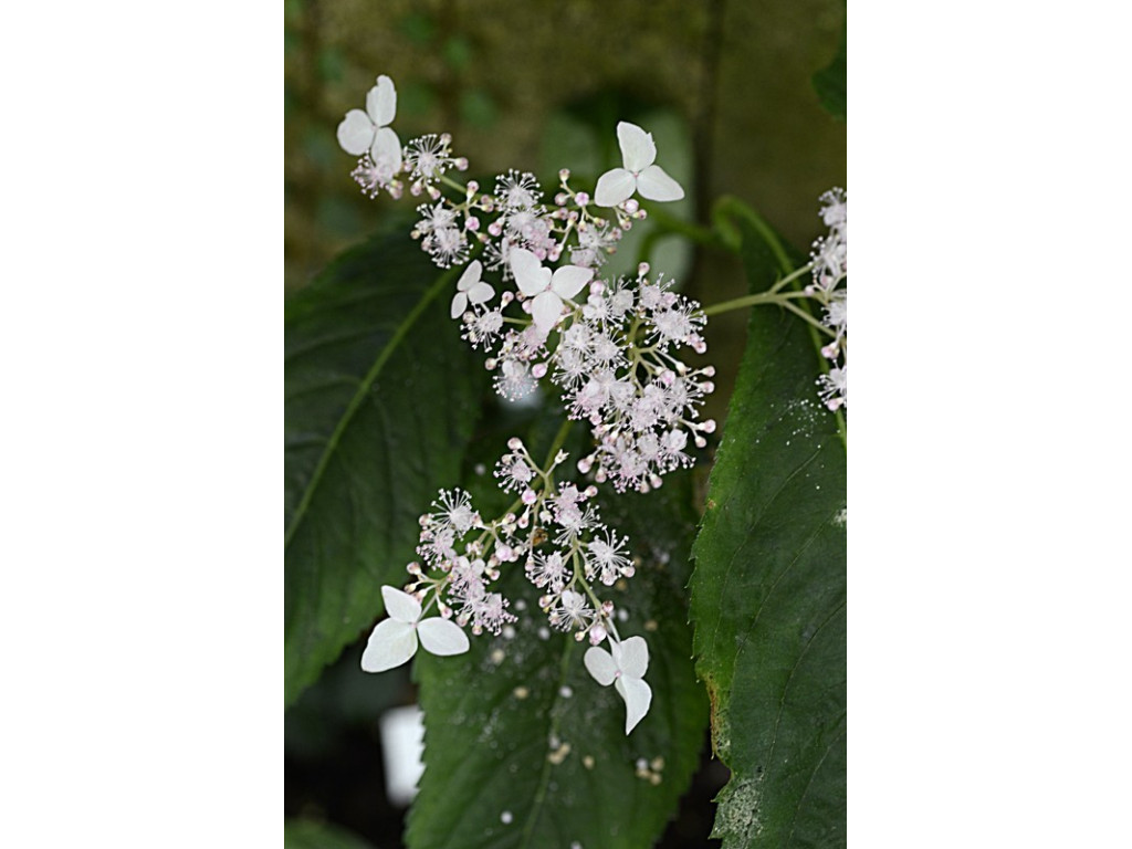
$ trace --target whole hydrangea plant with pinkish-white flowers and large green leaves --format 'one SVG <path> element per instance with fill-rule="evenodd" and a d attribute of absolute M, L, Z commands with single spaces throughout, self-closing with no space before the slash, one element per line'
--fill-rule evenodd
<path fill-rule="evenodd" d="M 653 205 L 685 196 L 644 127 L 611 128 L 621 165 L 592 188 L 563 168 L 551 192 L 516 169 L 486 186 L 456 179 L 471 163 L 448 134 L 402 145 L 388 76 L 377 77 L 365 103 L 337 128 L 340 146 L 359 157 L 352 178 L 370 198 L 408 194 L 421 203 L 408 233 L 349 255 L 290 319 L 289 393 L 298 406 L 289 411 L 289 564 L 316 582 L 337 578 L 329 598 L 289 599 L 289 698 L 384 606 L 361 668 L 385 672 L 418 658 L 430 722 L 410 842 L 441 844 L 455 794 L 466 796 L 462 829 L 477 839 L 490 843 L 500 827 L 506 834 L 512 808 L 525 808 L 524 840 L 539 833 L 544 844 L 565 846 L 572 835 L 542 814 L 548 795 L 583 809 L 588 794 L 597 804 L 604 794 L 633 792 L 641 780 L 650 787 L 641 816 L 601 827 L 634 840 L 655 833 L 691 777 L 706 694 L 714 752 L 734 772 L 717 832 L 747 846 L 766 826 L 744 812 L 761 799 L 773 811 L 797 791 L 786 779 L 763 783 L 786 761 L 734 748 L 752 721 L 736 694 L 795 698 L 796 686 L 829 666 L 805 666 L 815 644 L 833 653 L 834 666 L 838 645 L 843 654 L 835 623 L 843 623 L 846 194 L 821 197 L 827 232 L 808 261 L 735 199 L 717 205 L 712 228 L 686 228 L 704 245 L 741 254 L 753 288 L 704 307 L 649 261 L 631 275 L 603 271 Z M 441 269 L 435 282 L 420 282 L 426 272 L 412 242 Z M 398 275 L 413 282 L 402 285 Z M 709 319 L 745 307 L 756 307 L 752 335 L 722 445 L 713 446 L 715 420 L 704 417 L 717 374 L 703 360 Z M 491 374 L 500 403 L 538 404 L 529 432 L 496 446 L 471 439 L 472 415 L 463 412 L 475 403 L 477 363 Z M 447 409 L 422 409 L 391 388 L 397 384 L 444 392 Z M 548 422 L 549 440 L 539 430 Z M 368 440 L 381 439 L 414 446 L 418 468 L 397 451 L 355 460 Z M 711 465 L 713 448 L 689 552 L 693 477 Z M 462 472 L 469 457 L 481 460 Z M 375 487 L 368 473 L 389 486 Z M 411 523 L 410 542 L 405 508 L 422 505 L 444 477 L 449 488 Z M 366 530 L 378 515 L 380 533 Z M 397 575 L 387 557 L 406 546 L 413 559 Z M 589 646 L 578 657 L 572 643 Z M 790 663 L 798 681 L 794 671 L 779 680 Z M 469 692 L 469 676 L 479 692 Z M 752 681 L 765 693 L 752 696 Z M 603 689 L 610 685 L 623 707 L 616 722 Z M 542 754 L 514 754 L 508 729 L 529 729 L 540 715 L 549 718 L 543 740 L 524 746 Z M 823 706 L 817 727 L 822 737 L 837 735 L 843 714 Z M 797 745 L 808 746 L 798 734 Z M 466 755 L 479 764 L 470 771 L 474 792 L 449 770 L 453 748 L 463 747 L 479 749 Z M 484 809 L 506 804 L 478 796 L 490 749 L 503 752 L 512 772 L 531 771 L 534 790 L 486 824 L 490 817 L 468 807 L 472 798 Z M 555 767 L 563 767 L 560 781 Z M 583 790 L 588 773 L 600 779 Z M 436 782 L 446 775 L 441 790 Z M 576 842 L 588 833 L 604 832 L 580 829 Z"/>

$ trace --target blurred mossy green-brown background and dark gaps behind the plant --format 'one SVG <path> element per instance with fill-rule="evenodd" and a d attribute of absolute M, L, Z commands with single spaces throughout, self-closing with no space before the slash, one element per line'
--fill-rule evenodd
<path fill-rule="evenodd" d="M 632 120 L 654 134 L 658 162 L 688 192 L 666 212 L 706 223 L 715 198 L 736 195 L 805 249 L 822 231 L 818 195 L 846 185 L 846 125 L 812 82 L 838 51 L 844 15 L 843 0 L 285 0 L 285 291 L 384 217 L 412 221 L 420 203 L 365 198 L 335 139 L 379 74 L 397 87 L 402 143 L 451 132 L 483 186 L 515 168 L 552 196 L 568 166 L 575 188 L 592 188 L 620 165 L 615 127 Z M 614 271 L 635 265 L 644 232 L 634 230 Z M 685 240 L 649 256 L 705 303 L 745 292 L 734 257 L 693 252 Z M 739 311 L 709 327 L 719 388 L 707 414 L 720 420 L 745 323 Z M 412 701 L 412 685 L 408 675 L 363 676 L 357 655 L 348 649 L 288 712 L 286 815 L 400 846 L 403 812 L 384 797 L 377 719 Z M 704 764 L 662 846 L 718 844 L 706 842 L 710 799 L 727 771 Z"/>

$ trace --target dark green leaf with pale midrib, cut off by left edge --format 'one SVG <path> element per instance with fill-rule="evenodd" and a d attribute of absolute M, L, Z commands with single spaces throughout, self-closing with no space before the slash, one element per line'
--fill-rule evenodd
<path fill-rule="evenodd" d="M 381 614 L 418 516 L 458 474 L 482 370 L 448 317 L 457 271 L 391 232 L 286 306 L 288 704 Z"/>

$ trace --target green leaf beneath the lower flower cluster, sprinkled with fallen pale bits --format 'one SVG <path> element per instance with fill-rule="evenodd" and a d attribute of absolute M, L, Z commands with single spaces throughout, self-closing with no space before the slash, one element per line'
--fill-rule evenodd
<path fill-rule="evenodd" d="M 686 475 L 674 473 L 648 496 L 602 505 L 642 560 L 626 589 L 611 592 L 629 614 L 619 633 L 644 636 L 650 650 L 652 706 L 629 736 L 624 702 L 582 664 L 589 643 L 547 631 L 521 567 L 501 578 L 513 603 L 526 600 L 512 640 L 473 638 L 458 658 L 418 653 L 426 769 L 409 818 L 412 849 L 566 849 L 575 841 L 638 849 L 659 837 L 706 726 L 686 624 L 689 491 Z M 637 774 L 640 758 L 658 767 L 649 769 L 655 779 Z"/>

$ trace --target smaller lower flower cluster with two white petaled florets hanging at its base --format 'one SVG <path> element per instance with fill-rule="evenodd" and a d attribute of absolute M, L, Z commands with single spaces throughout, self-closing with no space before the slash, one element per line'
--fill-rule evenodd
<path fill-rule="evenodd" d="M 465 627 L 475 635 L 484 631 L 498 635 L 516 616 L 511 601 L 490 588 L 507 564 L 522 563 L 526 578 L 541 593 L 539 607 L 549 624 L 573 632 L 578 641 L 589 638 L 593 648 L 585 663 L 593 677 L 609 684 L 623 671 L 632 681 L 617 688 L 628 706 L 628 734 L 652 698 L 641 680 L 649 651 L 642 637 L 621 641 L 614 603 L 600 599 L 594 589 L 633 577 L 636 568 L 628 540 L 601 522 L 592 503 L 597 487 L 555 482 L 564 452 L 543 470 L 517 437 L 507 447 L 495 477 L 500 489 L 518 495 L 516 503 L 499 518 L 484 522 L 468 492 L 440 490 L 432 512 L 420 517 L 421 560 L 408 567 L 414 580 L 404 591 L 381 588 L 389 618 L 370 634 L 362 668 L 379 672 L 406 662 L 417 651 L 418 635 L 434 654 L 468 651 Z M 432 607 L 439 616 L 423 618 Z M 607 640 L 611 653 L 603 649 L 594 653 Z"/>

